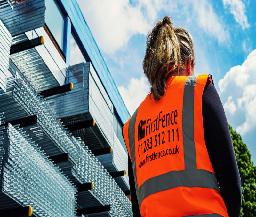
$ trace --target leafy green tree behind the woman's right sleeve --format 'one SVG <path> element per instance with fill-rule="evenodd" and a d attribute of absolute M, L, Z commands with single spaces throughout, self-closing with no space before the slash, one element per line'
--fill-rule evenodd
<path fill-rule="evenodd" d="M 241 217 L 256 217 L 256 167 L 242 137 L 229 126 L 242 183 Z"/>

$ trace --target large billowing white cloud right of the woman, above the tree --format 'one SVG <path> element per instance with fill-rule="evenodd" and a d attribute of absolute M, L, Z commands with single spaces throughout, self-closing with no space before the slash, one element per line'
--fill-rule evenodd
<path fill-rule="evenodd" d="M 255 130 L 256 49 L 242 65 L 232 67 L 218 85 L 228 122 L 241 135 Z"/>

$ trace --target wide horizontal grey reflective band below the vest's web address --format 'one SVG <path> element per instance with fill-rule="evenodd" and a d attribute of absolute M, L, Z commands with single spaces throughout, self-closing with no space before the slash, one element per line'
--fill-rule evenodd
<path fill-rule="evenodd" d="M 217 178 L 212 172 L 203 169 L 170 171 L 152 177 L 140 186 L 139 206 L 147 196 L 179 186 L 211 188 L 220 192 Z"/>

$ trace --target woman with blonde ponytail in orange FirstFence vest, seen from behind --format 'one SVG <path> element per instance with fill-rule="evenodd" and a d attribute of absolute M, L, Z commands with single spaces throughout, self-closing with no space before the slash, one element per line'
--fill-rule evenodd
<path fill-rule="evenodd" d="M 241 179 L 211 75 L 191 35 L 164 17 L 147 38 L 150 94 L 123 127 L 134 216 L 239 216 Z"/>

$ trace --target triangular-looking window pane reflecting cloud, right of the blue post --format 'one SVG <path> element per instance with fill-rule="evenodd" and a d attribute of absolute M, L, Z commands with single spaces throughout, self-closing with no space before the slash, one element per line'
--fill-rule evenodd
<path fill-rule="evenodd" d="M 71 38 L 70 38 L 70 65 L 75 65 L 78 63 L 86 63 L 86 60 L 84 58 L 82 49 L 76 40 L 76 36 L 73 31 L 71 31 Z"/>

